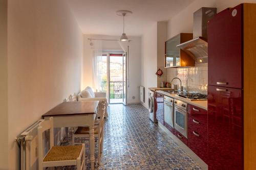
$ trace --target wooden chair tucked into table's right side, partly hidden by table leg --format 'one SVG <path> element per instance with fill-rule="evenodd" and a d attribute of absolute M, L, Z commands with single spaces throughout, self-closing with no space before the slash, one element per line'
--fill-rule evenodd
<path fill-rule="evenodd" d="M 94 136 L 98 138 L 98 162 L 100 162 L 100 157 L 102 154 L 102 147 L 103 147 L 103 129 L 104 129 L 104 114 L 105 114 L 105 107 L 106 102 L 102 103 L 102 105 L 98 106 L 98 115 L 96 116 L 94 122 Z M 89 127 L 78 127 L 75 133 L 72 136 L 72 144 L 82 143 L 81 138 L 89 139 Z M 80 138 L 80 142 L 75 142 L 75 138 Z"/>

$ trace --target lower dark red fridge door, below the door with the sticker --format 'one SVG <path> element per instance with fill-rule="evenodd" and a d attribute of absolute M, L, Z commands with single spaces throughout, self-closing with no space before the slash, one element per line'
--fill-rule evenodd
<path fill-rule="evenodd" d="M 208 169 L 243 169 L 241 89 L 208 86 Z"/>

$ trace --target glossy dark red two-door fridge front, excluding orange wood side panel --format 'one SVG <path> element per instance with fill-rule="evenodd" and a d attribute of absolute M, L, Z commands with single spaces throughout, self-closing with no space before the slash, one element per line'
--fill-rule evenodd
<path fill-rule="evenodd" d="M 243 169 L 243 4 L 208 22 L 208 169 Z"/>

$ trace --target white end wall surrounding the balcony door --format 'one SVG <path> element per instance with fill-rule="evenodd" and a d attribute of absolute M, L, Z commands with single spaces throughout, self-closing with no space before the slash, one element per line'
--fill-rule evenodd
<path fill-rule="evenodd" d="M 82 89 L 86 86 L 93 86 L 93 55 L 90 46 L 90 40 L 95 39 L 119 39 L 119 36 L 107 35 L 84 35 L 84 54 L 83 54 L 83 71 L 82 71 Z M 102 41 L 102 48 L 107 52 L 127 51 L 129 45 L 129 87 L 127 87 L 127 103 L 139 103 L 139 86 L 140 86 L 140 58 L 141 58 L 141 38 L 131 37 L 131 42 Z M 95 40 L 96 41 L 96 40 Z M 94 42 L 94 41 L 92 41 Z M 133 99 L 135 96 L 135 99 Z"/>

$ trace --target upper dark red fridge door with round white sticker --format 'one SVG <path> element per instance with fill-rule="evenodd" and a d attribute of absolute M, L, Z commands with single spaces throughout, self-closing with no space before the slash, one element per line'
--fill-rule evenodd
<path fill-rule="evenodd" d="M 242 88 L 243 5 L 208 22 L 208 85 Z"/>

